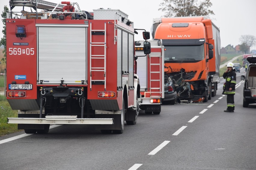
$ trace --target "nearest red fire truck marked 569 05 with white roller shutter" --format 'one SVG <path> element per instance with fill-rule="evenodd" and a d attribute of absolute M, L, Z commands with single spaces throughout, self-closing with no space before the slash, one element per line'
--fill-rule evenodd
<path fill-rule="evenodd" d="M 6 19 L 7 100 L 26 133 L 47 133 L 51 124 L 94 124 L 121 134 L 135 125 L 139 78 L 134 73 L 134 28 L 121 10 L 77 3 L 10 0 Z M 14 12 L 15 6 L 36 11 Z M 78 9 L 76 9 L 77 7 Z M 149 39 L 149 32 L 143 32 Z M 149 53 L 149 42 L 144 42 Z"/>

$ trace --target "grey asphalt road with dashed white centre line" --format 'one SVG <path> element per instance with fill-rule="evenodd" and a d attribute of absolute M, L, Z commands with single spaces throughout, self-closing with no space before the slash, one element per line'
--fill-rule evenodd
<path fill-rule="evenodd" d="M 255 170 L 256 105 L 242 107 L 243 72 L 237 73 L 234 113 L 223 112 L 221 80 L 209 102 L 162 105 L 160 115 L 140 112 L 123 134 L 60 125 L 48 134 L 0 137 L 0 169 Z"/>

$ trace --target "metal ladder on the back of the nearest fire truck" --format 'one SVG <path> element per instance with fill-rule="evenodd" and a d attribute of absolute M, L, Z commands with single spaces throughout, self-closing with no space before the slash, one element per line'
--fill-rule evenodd
<path fill-rule="evenodd" d="M 104 91 L 106 91 L 106 22 L 104 30 L 92 30 L 92 23 L 90 22 L 90 91 L 92 90 L 92 82 L 95 85 L 103 85 L 104 82 Z M 104 35 L 104 42 L 92 42 L 93 35 Z M 93 46 L 103 47 L 104 54 L 94 55 L 92 51 Z M 92 60 L 102 60 L 104 59 L 104 67 L 92 67 Z M 101 69 L 101 70 L 100 70 Z M 102 70 L 103 69 L 103 70 Z M 104 72 L 104 80 L 93 80 L 92 74 L 94 71 Z"/>

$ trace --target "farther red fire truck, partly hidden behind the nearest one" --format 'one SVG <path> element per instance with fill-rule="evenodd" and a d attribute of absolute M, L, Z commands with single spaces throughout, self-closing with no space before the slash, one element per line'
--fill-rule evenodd
<path fill-rule="evenodd" d="M 151 53 L 143 56 L 143 41 L 135 42 L 135 55 L 138 56 L 137 75 L 140 81 L 142 100 L 140 109 L 145 114 L 160 114 L 164 98 L 164 46 L 161 41 L 150 40 Z"/>

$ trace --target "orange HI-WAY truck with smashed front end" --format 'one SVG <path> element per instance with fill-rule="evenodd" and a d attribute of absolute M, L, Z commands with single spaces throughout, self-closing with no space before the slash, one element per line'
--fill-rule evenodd
<path fill-rule="evenodd" d="M 156 18 L 151 33 L 163 42 L 165 74 L 179 85 L 180 100 L 207 102 L 216 95 L 221 45 L 219 29 L 210 19 Z"/>

